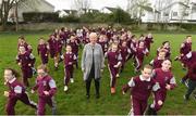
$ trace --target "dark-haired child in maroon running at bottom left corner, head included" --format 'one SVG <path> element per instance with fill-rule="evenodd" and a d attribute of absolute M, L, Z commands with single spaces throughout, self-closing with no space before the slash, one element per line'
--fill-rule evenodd
<path fill-rule="evenodd" d="M 15 105 L 20 100 L 26 105 L 37 109 L 37 104 L 30 101 L 25 87 L 17 81 L 19 74 L 12 68 L 4 69 L 4 85 L 9 87 L 9 91 L 4 91 L 4 96 L 8 98 L 7 115 L 15 115 Z"/>

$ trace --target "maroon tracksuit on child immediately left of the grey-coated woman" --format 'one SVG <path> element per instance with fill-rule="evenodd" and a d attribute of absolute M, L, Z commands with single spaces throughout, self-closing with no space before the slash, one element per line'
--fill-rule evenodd
<path fill-rule="evenodd" d="M 76 55 L 72 52 L 66 52 L 64 55 L 64 83 L 65 86 L 69 85 L 70 78 L 73 78 L 73 64 L 76 60 Z"/>

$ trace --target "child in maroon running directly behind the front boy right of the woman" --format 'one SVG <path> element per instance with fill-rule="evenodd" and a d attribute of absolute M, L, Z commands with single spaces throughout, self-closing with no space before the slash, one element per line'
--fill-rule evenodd
<path fill-rule="evenodd" d="M 135 49 L 135 61 L 136 61 L 136 67 L 135 72 L 137 73 L 139 68 L 143 65 L 144 56 L 148 54 L 148 49 L 145 47 L 145 42 L 140 41 L 138 43 L 138 47 Z"/>

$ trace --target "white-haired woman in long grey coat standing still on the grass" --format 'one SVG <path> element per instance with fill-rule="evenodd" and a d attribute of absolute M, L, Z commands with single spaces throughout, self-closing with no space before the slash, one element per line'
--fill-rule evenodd
<path fill-rule="evenodd" d="M 99 98 L 100 74 L 105 66 L 102 48 L 97 43 L 97 34 L 89 35 L 89 43 L 84 47 L 82 55 L 82 70 L 86 82 L 86 98 L 89 99 L 91 79 L 95 80 L 96 98 Z"/>

